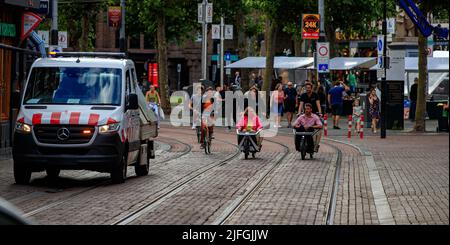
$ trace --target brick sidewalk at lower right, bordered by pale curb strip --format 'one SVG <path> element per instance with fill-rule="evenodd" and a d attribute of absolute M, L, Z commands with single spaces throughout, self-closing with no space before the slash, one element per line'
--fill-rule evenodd
<path fill-rule="evenodd" d="M 378 194 L 387 200 L 377 205 L 381 223 L 380 212 L 385 218 L 391 215 L 395 224 L 449 224 L 448 134 L 331 138 L 357 146 L 366 164 L 373 161 L 372 172 L 379 176 L 384 192 Z"/>

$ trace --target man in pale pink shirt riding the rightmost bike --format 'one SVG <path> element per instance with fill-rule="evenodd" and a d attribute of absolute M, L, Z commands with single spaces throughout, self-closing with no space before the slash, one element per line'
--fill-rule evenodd
<path fill-rule="evenodd" d="M 300 115 L 297 120 L 295 120 L 294 128 L 297 132 L 314 132 L 316 129 L 322 129 L 322 121 L 319 116 L 312 113 L 312 105 L 310 103 L 305 104 L 305 114 Z M 315 137 L 315 140 L 313 140 L 313 137 L 310 135 L 306 137 L 308 145 L 310 146 L 308 152 L 317 152 L 319 149 L 320 138 L 318 138 L 318 134 L 316 134 Z M 316 143 L 315 145 L 314 142 Z M 300 139 L 299 137 L 296 137 L 295 148 L 298 149 L 299 145 Z M 311 148 L 313 146 L 314 148 Z"/>

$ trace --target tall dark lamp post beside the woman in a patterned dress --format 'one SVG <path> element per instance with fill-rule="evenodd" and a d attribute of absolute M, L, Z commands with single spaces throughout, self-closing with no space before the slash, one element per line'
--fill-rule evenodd
<path fill-rule="evenodd" d="M 383 2 L 383 68 L 384 69 L 384 76 L 381 78 L 381 120 L 380 120 L 380 126 L 381 126 L 381 133 L 380 136 L 382 139 L 386 138 L 386 109 L 387 109 L 387 82 L 386 82 L 386 50 L 387 50 L 387 22 L 386 22 L 386 15 L 387 15 L 387 3 L 386 0 Z"/>

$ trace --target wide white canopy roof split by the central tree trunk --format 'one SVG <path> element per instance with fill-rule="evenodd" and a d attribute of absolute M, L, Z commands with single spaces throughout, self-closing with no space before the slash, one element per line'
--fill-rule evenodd
<path fill-rule="evenodd" d="M 274 68 L 276 69 L 299 69 L 310 66 L 314 63 L 312 57 L 275 57 Z M 266 68 L 266 57 L 247 57 L 236 61 L 225 68 Z"/>

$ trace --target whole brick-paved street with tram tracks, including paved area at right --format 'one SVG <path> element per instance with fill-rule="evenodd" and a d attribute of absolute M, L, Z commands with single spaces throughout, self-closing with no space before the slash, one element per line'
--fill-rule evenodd
<path fill-rule="evenodd" d="M 17 185 L 2 160 L 0 196 L 39 224 L 448 224 L 448 135 L 332 136 L 306 160 L 287 131 L 256 159 L 236 141 L 217 128 L 205 155 L 194 130 L 163 126 L 150 174 L 119 185 L 90 171 Z"/>

